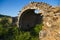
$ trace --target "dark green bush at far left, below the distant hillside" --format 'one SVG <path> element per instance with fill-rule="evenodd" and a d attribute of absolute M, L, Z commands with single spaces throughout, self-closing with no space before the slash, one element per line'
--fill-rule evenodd
<path fill-rule="evenodd" d="M 0 21 L 0 40 L 17 40 L 18 28 L 11 26 L 6 17 L 2 18 Z"/>

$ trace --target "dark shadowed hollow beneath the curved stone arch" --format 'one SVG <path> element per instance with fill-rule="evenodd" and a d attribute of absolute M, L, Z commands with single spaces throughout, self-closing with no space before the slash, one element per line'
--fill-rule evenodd
<path fill-rule="evenodd" d="M 28 9 L 22 13 L 19 18 L 19 27 L 22 30 L 30 30 L 36 24 L 40 24 L 42 22 L 41 14 L 37 14 L 35 9 Z"/>

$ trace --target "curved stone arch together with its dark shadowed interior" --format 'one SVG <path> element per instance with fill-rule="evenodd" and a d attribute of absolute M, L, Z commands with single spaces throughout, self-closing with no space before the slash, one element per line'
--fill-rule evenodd
<path fill-rule="evenodd" d="M 42 15 L 44 15 L 51 8 L 50 5 L 42 2 L 31 2 L 25 6 L 18 16 L 18 27 L 23 29 L 30 29 L 34 25 L 40 23 Z M 34 10 L 42 10 L 38 15 L 34 13 Z M 28 26 L 28 27 L 27 27 Z"/>

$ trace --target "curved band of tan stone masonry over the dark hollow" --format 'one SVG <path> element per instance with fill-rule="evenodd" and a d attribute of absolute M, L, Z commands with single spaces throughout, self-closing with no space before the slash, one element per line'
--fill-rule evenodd
<path fill-rule="evenodd" d="M 44 13 L 46 13 L 48 11 L 48 8 L 51 8 L 50 5 L 46 4 L 46 3 L 42 3 L 42 2 L 31 2 L 30 4 L 28 4 L 27 6 L 25 6 L 21 12 L 18 15 L 18 26 L 19 26 L 19 21 L 21 18 L 21 15 L 24 14 L 23 12 L 25 12 L 26 10 L 42 10 L 40 11 L 40 13 L 42 13 L 41 15 L 43 15 Z"/>

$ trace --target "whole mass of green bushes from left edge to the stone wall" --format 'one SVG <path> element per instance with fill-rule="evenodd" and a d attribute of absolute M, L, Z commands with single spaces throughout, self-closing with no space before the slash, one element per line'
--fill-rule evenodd
<path fill-rule="evenodd" d="M 11 26 L 5 17 L 0 22 L 0 40 L 38 40 L 42 25 L 37 24 L 30 31 L 21 31 L 17 26 Z"/>

